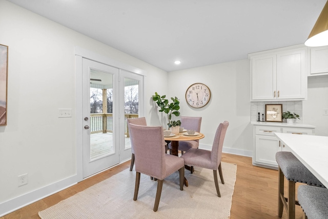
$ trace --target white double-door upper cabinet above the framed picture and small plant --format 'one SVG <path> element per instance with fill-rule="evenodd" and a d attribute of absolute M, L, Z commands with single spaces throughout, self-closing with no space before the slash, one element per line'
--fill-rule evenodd
<path fill-rule="evenodd" d="M 293 46 L 249 54 L 251 101 L 305 100 L 306 51 Z"/>

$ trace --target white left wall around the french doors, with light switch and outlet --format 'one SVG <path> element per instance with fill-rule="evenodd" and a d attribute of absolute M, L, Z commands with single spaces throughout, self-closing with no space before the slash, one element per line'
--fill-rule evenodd
<path fill-rule="evenodd" d="M 0 126 L 0 216 L 76 183 L 75 53 L 84 48 L 145 70 L 145 116 L 151 95 L 166 92 L 167 72 L 0 0 L 0 43 L 9 46 L 8 125 Z M 161 83 L 154 83 L 157 80 Z M 147 100 L 149 98 L 149 100 Z M 72 108 L 72 118 L 58 118 Z M 17 176 L 28 173 L 18 187 Z"/>

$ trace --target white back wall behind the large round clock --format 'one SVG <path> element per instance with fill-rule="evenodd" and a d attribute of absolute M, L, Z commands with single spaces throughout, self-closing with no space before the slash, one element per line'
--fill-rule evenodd
<path fill-rule="evenodd" d="M 197 82 L 208 85 L 212 96 L 206 106 L 198 109 L 190 107 L 185 98 L 188 87 Z M 252 156 L 248 59 L 170 72 L 168 87 L 168 96 L 180 99 L 181 116 L 202 117 L 201 132 L 205 138 L 199 141 L 201 148 L 212 148 L 217 126 L 227 120 L 230 124 L 223 151 Z"/>

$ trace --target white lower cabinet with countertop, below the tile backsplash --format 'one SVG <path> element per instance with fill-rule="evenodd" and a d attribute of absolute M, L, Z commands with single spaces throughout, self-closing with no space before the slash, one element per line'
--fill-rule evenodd
<path fill-rule="evenodd" d="M 274 133 L 290 133 L 295 135 L 314 135 L 315 126 L 300 123 L 292 127 L 286 123 L 252 122 L 254 125 L 254 152 L 253 165 L 277 169 L 276 153 L 278 151 L 289 151 Z"/>

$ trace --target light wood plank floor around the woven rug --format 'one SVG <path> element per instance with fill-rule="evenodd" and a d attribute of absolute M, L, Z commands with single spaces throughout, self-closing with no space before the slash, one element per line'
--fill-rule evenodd
<path fill-rule="evenodd" d="M 279 218 L 277 213 L 278 171 L 253 166 L 252 158 L 249 157 L 223 154 L 222 161 L 237 164 L 237 179 L 232 198 L 231 219 Z M 115 166 L 43 200 L 0 217 L 0 219 L 39 218 L 37 214 L 39 211 L 55 205 L 61 200 L 67 199 L 129 167 L 130 161 Z M 213 192 L 215 192 L 214 183 L 213 189 Z M 131 195 L 133 196 L 133 194 Z M 285 210 L 282 218 L 287 218 Z M 296 206 L 296 218 L 302 218 L 300 206 Z"/>

